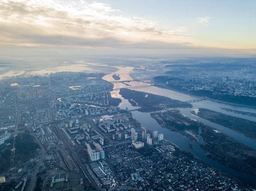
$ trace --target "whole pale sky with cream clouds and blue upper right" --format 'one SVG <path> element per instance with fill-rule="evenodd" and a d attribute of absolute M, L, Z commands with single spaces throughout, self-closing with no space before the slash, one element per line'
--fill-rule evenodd
<path fill-rule="evenodd" d="M 256 55 L 255 0 L 0 0 L 0 58 Z"/>

